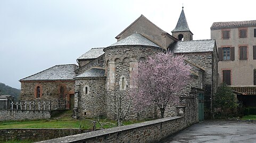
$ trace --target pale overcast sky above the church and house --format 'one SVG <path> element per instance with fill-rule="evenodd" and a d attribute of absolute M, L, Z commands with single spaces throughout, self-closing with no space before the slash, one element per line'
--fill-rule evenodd
<path fill-rule="evenodd" d="M 182 5 L 194 40 L 210 39 L 213 22 L 256 20 L 255 1 L 0 0 L 0 82 L 49 67 L 77 64 L 90 48 L 108 47 L 141 14 L 171 34 Z"/>

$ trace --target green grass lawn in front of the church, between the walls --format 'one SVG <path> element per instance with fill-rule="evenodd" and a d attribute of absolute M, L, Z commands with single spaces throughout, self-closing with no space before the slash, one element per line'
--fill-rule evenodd
<path fill-rule="evenodd" d="M 76 120 L 72 119 L 72 111 L 65 111 L 64 113 L 58 115 L 53 119 L 44 119 L 44 120 L 28 120 L 28 121 L 2 121 L 0 122 L 0 129 L 10 129 L 10 128 L 74 128 L 84 130 L 92 130 L 94 119 L 83 119 Z M 123 124 L 133 124 L 138 122 L 143 122 L 145 120 L 130 120 L 124 121 Z M 117 124 L 114 120 L 100 119 L 100 122 L 103 128 L 113 128 Z M 100 123 L 96 123 L 96 129 L 102 129 Z"/>

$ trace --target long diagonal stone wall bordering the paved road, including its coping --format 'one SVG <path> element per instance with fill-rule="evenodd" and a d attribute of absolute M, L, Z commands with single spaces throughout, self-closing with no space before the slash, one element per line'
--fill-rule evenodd
<path fill-rule="evenodd" d="M 170 117 L 117 128 L 81 133 L 43 142 L 159 142 L 183 130 L 189 124 L 184 117 Z"/>

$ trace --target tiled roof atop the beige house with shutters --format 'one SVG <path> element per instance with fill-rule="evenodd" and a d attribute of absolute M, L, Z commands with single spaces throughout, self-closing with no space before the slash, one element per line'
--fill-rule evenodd
<path fill-rule="evenodd" d="M 235 27 L 242 27 L 242 26 L 255 26 L 255 25 L 256 25 L 256 20 L 213 22 L 211 29 L 235 28 Z"/>

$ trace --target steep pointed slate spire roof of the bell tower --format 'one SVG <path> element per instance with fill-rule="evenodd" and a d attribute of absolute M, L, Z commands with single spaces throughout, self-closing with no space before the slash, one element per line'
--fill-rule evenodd
<path fill-rule="evenodd" d="M 177 25 L 176 25 L 175 29 L 172 30 L 171 32 L 181 32 L 181 31 L 190 31 L 188 28 L 187 19 L 186 19 L 183 8 L 180 13 Z"/>

